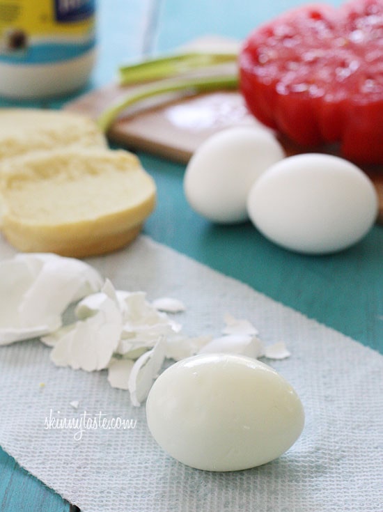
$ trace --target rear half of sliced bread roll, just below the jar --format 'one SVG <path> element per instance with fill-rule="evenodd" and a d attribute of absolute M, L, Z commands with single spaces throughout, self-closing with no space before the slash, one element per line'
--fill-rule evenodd
<path fill-rule="evenodd" d="M 0 161 L 35 150 L 107 147 L 95 121 L 66 111 L 0 109 Z"/>

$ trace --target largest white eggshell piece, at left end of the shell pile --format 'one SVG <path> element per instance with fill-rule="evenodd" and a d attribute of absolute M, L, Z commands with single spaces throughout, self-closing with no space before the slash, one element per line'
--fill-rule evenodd
<path fill-rule="evenodd" d="M 61 326 L 70 303 L 100 290 L 87 263 L 56 254 L 17 254 L 0 262 L 0 345 L 31 339 Z"/>

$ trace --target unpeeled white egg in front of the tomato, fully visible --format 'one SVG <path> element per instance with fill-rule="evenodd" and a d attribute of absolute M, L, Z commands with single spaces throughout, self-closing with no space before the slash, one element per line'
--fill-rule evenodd
<path fill-rule="evenodd" d="M 306 254 L 350 247 L 377 217 L 377 193 L 359 167 L 308 153 L 271 166 L 249 192 L 249 217 L 276 244 Z"/>

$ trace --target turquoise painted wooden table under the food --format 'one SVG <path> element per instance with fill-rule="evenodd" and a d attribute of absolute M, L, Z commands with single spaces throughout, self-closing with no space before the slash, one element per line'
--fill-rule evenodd
<path fill-rule="evenodd" d="M 109 84 L 120 63 L 206 34 L 242 39 L 260 22 L 302 3 L 100 0 L 99 57 L 88 89 Z M 60 108 L 63 102 L 40 106 Z M 22 103 L 0 102 L 3 107 L 15 105 Z M 362 242 L 339 254 L 292 254 L 265 240 L 251 224 L 214 226 L 205 221 L 182 193 L 185 166 L 146 154 L 139 157 L 158 189 L 157 210 L 145 233 L 383 353 L 382 226 L 374 226 Z M 0 451 L 1 511 L 75 509 Z"/>

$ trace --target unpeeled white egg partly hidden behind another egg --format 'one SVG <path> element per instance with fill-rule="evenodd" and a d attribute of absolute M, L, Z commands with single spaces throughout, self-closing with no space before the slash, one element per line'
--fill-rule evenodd
<path fill-rule="evenodd" d="M 187 201 L 218 223 L 243 222 L 249 189 L 267 167 L 284 157 L 274 135 L 259 127 L 233 127 L 212 135 L 192 156 L 185 172 Z"/>

